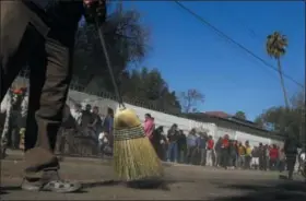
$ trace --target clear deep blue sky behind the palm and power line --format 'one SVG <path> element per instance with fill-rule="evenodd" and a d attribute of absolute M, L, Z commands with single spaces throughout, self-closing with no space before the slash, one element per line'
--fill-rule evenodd
<path fill-rule="evenodd" d="M 301 1 L 193 1 L 184 5 L 250 49 L 267 62 L 267 35 L 279 31 L 289 38 L 283 71 L 305 83 L 305 7 Z M 264 109 L 284 105 L 279 74 L 173 1 L 126 1 L 141 13 L 151 31 L 150 52 L 141 67 L 156 68 L 170 90 L 197 88 L 205 95 L 200 111 L 243 110 L 254 120 Z M 302 88 L 285 80 L 290 96 Z"/>

